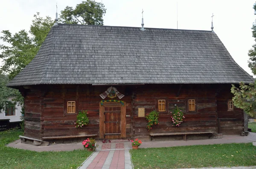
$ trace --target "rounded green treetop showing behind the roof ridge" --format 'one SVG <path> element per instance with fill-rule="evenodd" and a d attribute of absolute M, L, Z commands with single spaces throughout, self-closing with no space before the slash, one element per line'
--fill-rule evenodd
<path fill-rule="evenodd" d="M 103 25 L 102 16 L 106 13 L 104 7 L 102 3 L 94 0 L 82 1 L 76 5 L 76 9 L 67 6 L 61 11 L 60 20 L 62 23 Z"/>

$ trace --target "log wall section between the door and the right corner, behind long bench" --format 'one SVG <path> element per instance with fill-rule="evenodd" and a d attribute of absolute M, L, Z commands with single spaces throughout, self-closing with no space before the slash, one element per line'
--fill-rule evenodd
<path fill-rule="evenodd" d="M 214 132 L 217 133 L 217 106 L 215 89 L 210 85 L 145 85 L 137 87 L 133 103 L 133 136 L 149 138 L 149 133 L 164 132 Z M 178 96 L 177 96 L 178 94 Z M 186 99 L 195 98 L 196 112 L 186 112 Z M 145 107 L 145 115 L 157 109 L 157 99 L 166 99 L 168 109 L 160 112 L 159 125 L 146 129 L 145 117 L 138 117 L 138 108 Z M 172 126 L 171 111 L 175 105 L 184 111 L 185 119 L 180 127 Z"/>

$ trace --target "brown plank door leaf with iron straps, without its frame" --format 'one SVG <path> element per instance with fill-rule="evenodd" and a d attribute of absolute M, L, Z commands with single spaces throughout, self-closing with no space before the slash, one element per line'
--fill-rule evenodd
<path fill-rule="evenodd" d="M 121 107 L 105 107 L 104 116 L 105 138 L 121 138 Z"/>

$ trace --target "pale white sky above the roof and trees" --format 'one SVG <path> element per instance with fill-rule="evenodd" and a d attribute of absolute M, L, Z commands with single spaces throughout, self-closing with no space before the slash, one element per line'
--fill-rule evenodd
<path fill-rule="evenodd" d="M 247 66 L 248 51 L 255 43 L 252 37 L 254 0 L 96 0 L 107 9 L 105 26 L 141 27 L 142 9 L 144 28 L 211 30 L 230 52 L 236 63 L 253 75 Z M 66 6 L 76 7 L 81 0 L 0 0 L 0 32 L 29 31 L 33 15 L 55 19 Z M 178 22 L 177 22 L 178 21 Z M 0 33 L 0 35 L 2 35 Z M 0 40 L 0 44 L 3 41 Z M 3 65 L 3 60 L 0 60 Z"/>

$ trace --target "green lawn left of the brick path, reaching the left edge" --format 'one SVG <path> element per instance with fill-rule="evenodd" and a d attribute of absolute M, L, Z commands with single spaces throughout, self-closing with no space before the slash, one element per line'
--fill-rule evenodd
<path fill-rule="evenodd" d="M 91 154 L 84 150 L 70 152 L 34 152 L 6 147 L 23 135 L 21 130 L 0 132 L 0 169 L 76 169 Z"/>

